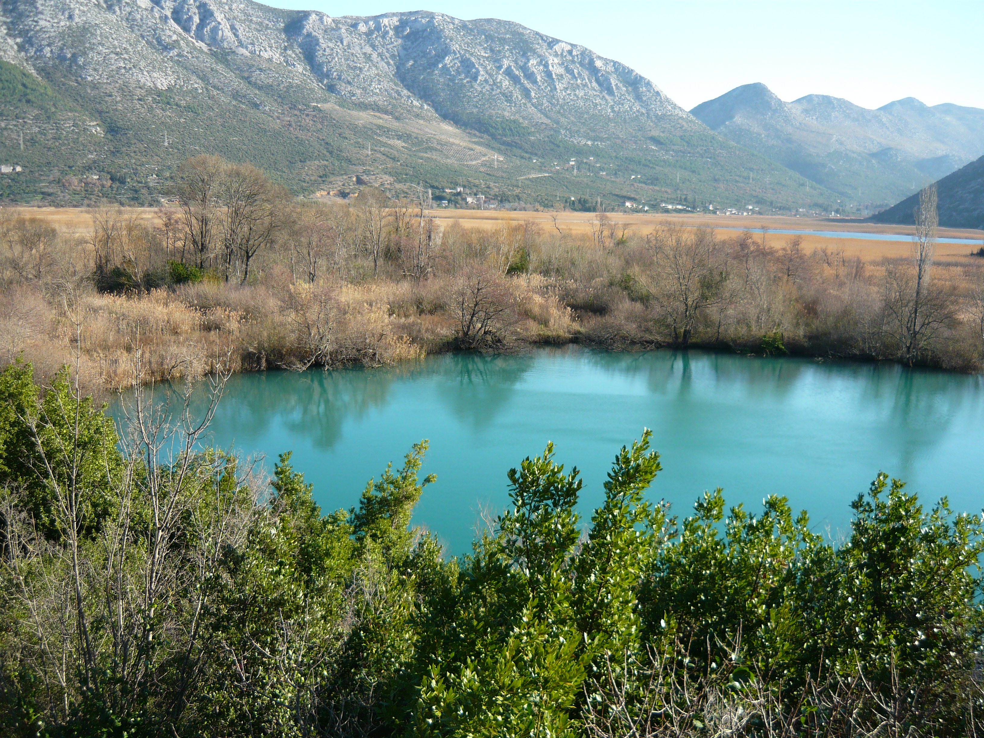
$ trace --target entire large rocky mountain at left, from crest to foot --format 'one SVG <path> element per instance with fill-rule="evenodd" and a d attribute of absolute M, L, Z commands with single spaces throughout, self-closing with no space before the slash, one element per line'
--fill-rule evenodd
<path fill-rule="evenodd" d="M 185 157 L 298 194 L 363 183 L 501 200 L 826 210 L 632 69 L 496 20 L 333 18 L 249 0 L 0 2 L 0 198 L 153 203 Z M 454 196 L 452 196 L 454 197 Z"/>

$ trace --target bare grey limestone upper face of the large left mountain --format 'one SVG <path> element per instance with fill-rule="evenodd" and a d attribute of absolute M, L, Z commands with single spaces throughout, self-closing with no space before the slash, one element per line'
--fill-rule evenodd
<path fill-rule="evenodd" d="M 2 25 L 0 54 L 10 50 L 0 58 L 67 67 L 107 88 L 222 86 L 230 81 L 210 54 L 232 52 L 282 67 L 272 72 L 284 85 L 408 103 L 463 123 L 508 119 L 578 140 L 623 135 L 627 124 L 701 128 L 628 67 L 505 21 L 332 18 L 232 0 L 22 0 Z"/>

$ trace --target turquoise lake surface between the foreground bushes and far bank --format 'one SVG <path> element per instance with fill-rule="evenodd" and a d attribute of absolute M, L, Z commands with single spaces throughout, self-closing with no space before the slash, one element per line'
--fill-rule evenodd
<path fill-rule="evenodd" d="M 653 431 L 663 471 L 650 489 L 680 515 L 707 489 L 761 509 L 768 494 L 843 531 L 849 502 L 880 469 L 924 502 L 984 506 L 984 381 L 891 364 L 705 352 L 611 353 L 568 346 L 512 356 L 446 354 L 393 369 L 230 379 L 212 441 L 292 450 L 323 509 L 357 504 L 366 481 L 430 439 L 415 523 L 452 553 L 481 508 L 508 504 L 506 472 L 548 440 L 583 470 L 585 519 L 617 450 Z"/>

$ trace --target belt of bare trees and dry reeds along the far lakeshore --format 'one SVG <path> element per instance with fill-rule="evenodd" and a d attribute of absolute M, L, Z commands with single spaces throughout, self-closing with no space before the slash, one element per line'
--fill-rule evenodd
<path fill-rule="evenodd" d="M 932 188 L 911 255 L 878 262 L 768 228 L 639 232 L 605 213 L 580 233 L 445 226 L 423 197 L 297 201 L 215 156 L 185 162 L 169 193 L 153 219 L 93 209 L 82 234 L 0 212 L 0 360 L 50 379 L 79 349 L 92 391 L 132 384 L 138 348 L 158 380 L 568 341 L 984 364 L 984 260 L 935 258 Z"/>

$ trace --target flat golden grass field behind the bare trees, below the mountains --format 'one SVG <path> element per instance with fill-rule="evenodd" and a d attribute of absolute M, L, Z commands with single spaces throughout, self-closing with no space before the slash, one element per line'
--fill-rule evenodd
<path fill-rule="evenodd" d="M 157 221 L 156 211 L 151 208 L 136 209 L 140 218 L 148 222 Z M 63 230 L 69 232 L 86 233 L 92 230 L 92 217 L 81 208 L 26 208 L 19 211 L 23 215 L 40 217 Z M 458 221 L 463 227 L 484 227 L 493 228 L 503 221 L 522 222 L 523 220 L 533 220 L 544 227 L 554 227 L 554 216 L 556 225 L 562 230 L 576 235 L 588 235 L 590 233 L 590 221 L 594 217 L 592 213 L 523 213 L 508 211 L 477 211 L 477 210 L 435 210 L 432 215 L 437 217 L 445 226 Z M 902 257 L 909 253 L 910 236 L 914 231 L 913 226 L 909 225 L 884 225 L 880 223 L 870 223 L 861 220 L 848 218 L 825 219 L 825 218 L 806 218 L 806 217 L 782 217 L 782 216 L 754 216 L 746 217 L 741 215 L 649 215 L 649 214 L 628 214 L 612 213 L 609 214 L 611 220 L 621 229 L 621 226 L 631 228 L 636 233 L 646 233 L 659 223 L 670 222 L 683 227 L 709 226 L 730 232 L 742 228 L 762 228 L 802 231 L 854 231 L 862 233 L 885 233 L 897 235 L 898 240 L 893 241 L 873 241 L 849 236 L 830 236 L 819 233 L 804 232 L 800 233 L 802 246 L 810 251 L 820 248 L 831 250 L 842 250 L 844 256 L 853 258 L 861 257 L 866 262 L 878 261 L 884 257 Z M 970 238 L 975 239 L 984 245 L 984 232 L 971 229 L 940 228 L 941 238 Z M 757 238 L 761 237 L 757 234 Z M 788 233 L 769 233 L 768 243 L 773 246 L 781 245 L 793 238 Z M 969 252 L 971 247 L 968 244 L 959 243 L 939 243 L 937 245 L 937 257 L 947 260 L 963 261 L 971 263 Z"/>

